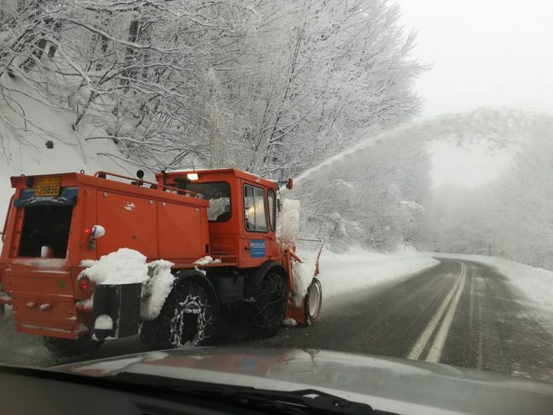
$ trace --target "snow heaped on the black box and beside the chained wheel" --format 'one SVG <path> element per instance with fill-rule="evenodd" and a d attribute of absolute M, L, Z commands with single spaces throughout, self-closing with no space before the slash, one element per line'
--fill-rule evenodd
<path fill-rule="evenodd" d="M 78 277 L 86 275 L 96 284 L 143 284 L 140 314 L 145 320 L 158 317 L 175 281 L 171 274 L 173 262 L 159 259 L 146 264 L 144 255 L 129 248 L 111 252 L 98 261 L 83 261 L 81 266 L 88 268 Z"/>

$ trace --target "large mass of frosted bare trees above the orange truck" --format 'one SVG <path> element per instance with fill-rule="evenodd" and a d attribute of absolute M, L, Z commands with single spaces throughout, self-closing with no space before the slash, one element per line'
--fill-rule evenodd
<path fill-rule="evenodd" d="M 74 112 L 76 134 L 151 168 L 278 179 L 419 109 L 414 36 L 388 1 L 4 2 L 0 80 L 27 83 Z M 25 129 L 16 92 L 0 88 L 6 122 Z"/>

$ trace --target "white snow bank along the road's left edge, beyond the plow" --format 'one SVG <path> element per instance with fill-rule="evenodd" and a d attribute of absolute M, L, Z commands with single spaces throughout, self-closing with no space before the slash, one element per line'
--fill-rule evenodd
<path fill-rule="evenodd" d="M 301 252 L 298 252 L 301 257 Z M 378 254 L 357 250 L 349 254 L 329 251 L 320 255 L 319 280 L 323 301 L 362 288 L 378 286 L 437 265 L 439 261 L 420 252 Z"/>

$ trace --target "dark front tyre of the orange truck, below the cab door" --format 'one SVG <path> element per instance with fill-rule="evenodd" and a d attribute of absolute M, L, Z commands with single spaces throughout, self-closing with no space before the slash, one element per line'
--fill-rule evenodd
<path fill-rule="evenodd" d="M 273 337 L 286 313 L 286 281 L 280 274 L 269 271 L 263 276 L 260 294 L 252 303 L 253 325 L 260 337 Z"/>

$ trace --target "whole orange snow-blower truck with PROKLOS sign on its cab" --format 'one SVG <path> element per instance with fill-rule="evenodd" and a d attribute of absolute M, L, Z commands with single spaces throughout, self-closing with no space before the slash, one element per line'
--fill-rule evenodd
<path fill-rule="evenodd" d="M 270 337 L 318 317 L 322 241 L 301 268 L 296 236 L 277 240 L 277 182 L 234 169 L 136 176 L 11 177 L 0 312 L 11 305 L 19 332 L 67 356 L 135 334 L 145 349 L 199 346 L 235 323 Z"/>

